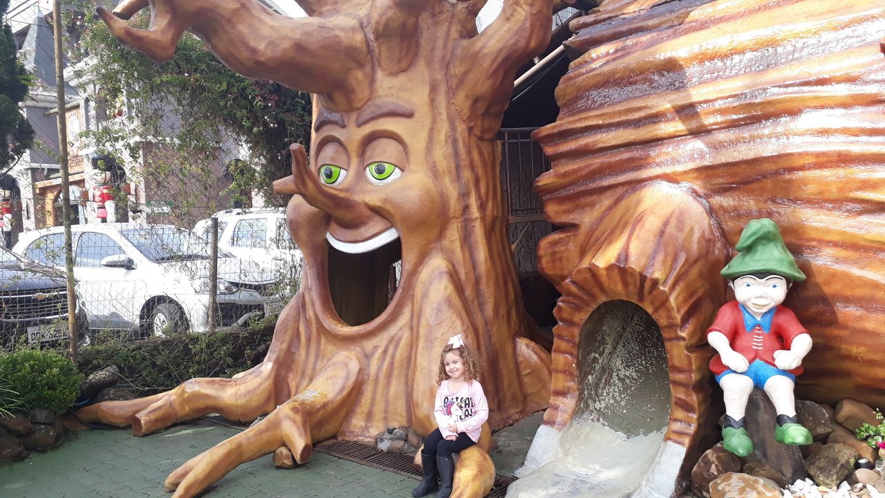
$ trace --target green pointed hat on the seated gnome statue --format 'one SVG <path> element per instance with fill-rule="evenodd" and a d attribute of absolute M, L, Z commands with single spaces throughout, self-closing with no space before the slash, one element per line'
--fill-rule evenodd
<path fill-rule="evenodd" d="M 738 251 L 735 259 L 721 271 L 728 280 L 750 273 L 773 273 L 794 282 L 805 279 L 805 274 L 783 243 L 781 230 L 768 218 L 747 223 L 735 249 Z"/>

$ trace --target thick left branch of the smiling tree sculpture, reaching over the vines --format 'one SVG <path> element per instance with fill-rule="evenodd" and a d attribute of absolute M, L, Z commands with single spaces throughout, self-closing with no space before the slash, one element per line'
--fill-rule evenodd
<path fill-rule="evenodd" d="M 118 11 L 131 16 L 143 4 L 128 0 Z M 369 97 L 372 66 L 356 19 L 291 19 L 255 0 L 152 0 L 150 6 L 147 30 L 102 8 L 98 14 L 120 42 L 155 60 L 172 58 L 188 30 L 235 72 L 324 95 L 329 108 L 358 107 Z"/>

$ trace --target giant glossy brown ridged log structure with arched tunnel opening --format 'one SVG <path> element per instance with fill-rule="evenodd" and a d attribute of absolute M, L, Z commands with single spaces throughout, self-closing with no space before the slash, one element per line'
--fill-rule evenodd
<path fill-rule="evenodd" d="M 666 345 L 656 479 L 678 490 L 718 429 L 704 332 L 727 299 L 719 271 L 761 217 L 809 277 L 786 303 L 814 340 L 797 395 L 885 405 L 881 1 L 609 0 L 571 27 L 582 55 L 534 134 L 552 164 L 536 188 L 564 227 L 538 249 L 563 294 L 545 426 L 580 402 L 582 324 L 633 301 Z"/>

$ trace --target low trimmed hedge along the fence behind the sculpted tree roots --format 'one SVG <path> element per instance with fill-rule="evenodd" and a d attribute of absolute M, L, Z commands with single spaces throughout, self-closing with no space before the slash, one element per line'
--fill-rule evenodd
<path fill-rule="evenodd" d="M 99 333 L 81 349 L 77 368 L 85 375 L 117 365 L 120 376 L 140 394 L 160 393 L 194 377 L 231 377 L 261 361 L 259 346 L 273 338 L 273 323 L 256 330 L 182 332 L 131 341 Z"/>

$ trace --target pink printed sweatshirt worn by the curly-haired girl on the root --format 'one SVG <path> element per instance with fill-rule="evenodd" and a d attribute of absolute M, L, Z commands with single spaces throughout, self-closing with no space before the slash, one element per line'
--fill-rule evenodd
<path fill-rule="evenodd" d="M 449 390 L 449 381 L 436 390 L 434 417 L 443 438 L 453 434 L 447 427 L 451 421 L 458 426 L 458 432 L 466 432 L 473 442 L 480 440 L 482 424 L 489 419 L 489 402 L 482 392 L 479 382 L 466 382 L 457 393 Z"/>

